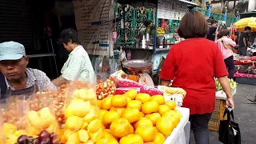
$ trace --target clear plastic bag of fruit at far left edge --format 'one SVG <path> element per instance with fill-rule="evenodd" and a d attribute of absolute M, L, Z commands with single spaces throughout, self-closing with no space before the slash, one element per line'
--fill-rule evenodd
<path fill-rule="evenodd" d="M 11 96 L 1 100 L 2 127 L 6 134 L 6 144 L 19 143 L 19 138 L 26 135 L 26 108 L 29 95 Z"/>

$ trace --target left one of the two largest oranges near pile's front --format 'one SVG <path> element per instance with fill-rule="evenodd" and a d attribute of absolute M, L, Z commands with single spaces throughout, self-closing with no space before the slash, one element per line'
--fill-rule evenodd
<path fill-rule="evenodd" d="M 133 134 L 134 128 L 126 118 L 116 118 L 110 125 L 110 133 L 115 138 L 122 138 L 128 134 Z"/>

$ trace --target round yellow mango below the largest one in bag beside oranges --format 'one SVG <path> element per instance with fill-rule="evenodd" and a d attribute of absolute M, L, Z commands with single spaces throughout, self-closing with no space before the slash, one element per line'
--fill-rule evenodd
<path fill-rule="evenodd" d="M 66 119 L 66 129 L 77 131 L 82 127 L 82 118 L 70 116 Z"/>

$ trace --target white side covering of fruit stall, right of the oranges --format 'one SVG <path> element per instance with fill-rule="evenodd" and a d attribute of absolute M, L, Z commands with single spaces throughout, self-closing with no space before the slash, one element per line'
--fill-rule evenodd
<path fill-rule="evenodd" d="M 190 109 L 184 107 L 178 107 L 177 110 L 182 112 L 182 119 L 178 123 L 178 126 L 174 129 L 174 131 L 170 134 L 169 137 L 166 138 L 166 142 L 164 144 L 186 144 L 186 139 L 190 138 L 190 133 L 186 134 L 186 129 L 190 129 L 190 126 L 186 126 L 189 122 L 190 118 Z"/>

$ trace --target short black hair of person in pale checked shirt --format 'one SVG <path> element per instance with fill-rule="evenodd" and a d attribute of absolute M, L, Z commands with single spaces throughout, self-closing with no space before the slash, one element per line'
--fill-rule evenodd
<path fill-rule="evenodd" d="M 69 42 L 80 44 L 79 38 L 78 38 L 78 32 L 72 28 L 62 30 L 60 34 L 60 40 L 65 44 Z"/>

